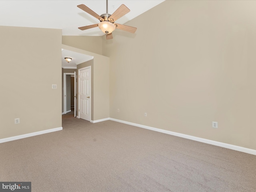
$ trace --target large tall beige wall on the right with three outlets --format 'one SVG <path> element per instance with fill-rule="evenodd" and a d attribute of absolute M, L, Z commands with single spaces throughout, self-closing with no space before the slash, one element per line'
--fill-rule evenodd
<path fill-rule="evenodd" d="M 167 0 L 102 37 L 110 117 L 256 150 L 255 7 Z"/>

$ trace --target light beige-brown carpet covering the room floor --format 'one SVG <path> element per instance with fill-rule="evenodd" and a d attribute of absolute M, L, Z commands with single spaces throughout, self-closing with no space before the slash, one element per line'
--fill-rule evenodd
<path fill-rule="evenodd" d="M 32 192 L 255 192 L 256 156 L 66 114 L 63 130 L 0 144 L 0 181 Z"/>

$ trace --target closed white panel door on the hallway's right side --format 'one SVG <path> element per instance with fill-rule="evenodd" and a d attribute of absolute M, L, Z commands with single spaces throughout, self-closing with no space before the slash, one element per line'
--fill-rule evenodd
<path fill-rule="evenodd" d="M 79 117 L 91 120 L 91 68 L 79 70 Z"/>

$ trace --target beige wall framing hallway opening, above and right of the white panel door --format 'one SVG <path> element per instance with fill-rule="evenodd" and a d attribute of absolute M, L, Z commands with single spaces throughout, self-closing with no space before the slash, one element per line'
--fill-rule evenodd
<path fill-rule="evenodd" d="M 91 102 L 93 108 L 91 120 L 109 118 L 109 58 L 69 45 L 62 44 L 62 48 L 94 57 L 91 61 L 79 64 L 77 69 L 92 66 L 93 98 Z"/>

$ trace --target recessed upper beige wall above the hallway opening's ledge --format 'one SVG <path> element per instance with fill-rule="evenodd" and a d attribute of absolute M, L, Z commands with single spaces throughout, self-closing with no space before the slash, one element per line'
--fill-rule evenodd
<path fill-rule="evenodd" d="M 62 44 L 102 54 L 102 38 L 100 36 L 62 36 Z"/>

